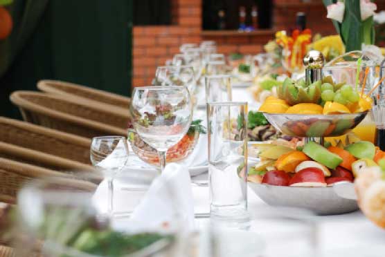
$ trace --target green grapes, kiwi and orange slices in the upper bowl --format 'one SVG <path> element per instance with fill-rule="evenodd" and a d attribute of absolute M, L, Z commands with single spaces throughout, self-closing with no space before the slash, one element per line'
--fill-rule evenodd
<path fill-rule="evenodd" d="M 372 108 L 373 99 L 353 86 L 335 84 L 332 77 L 307 85 L 305 80 L 287 77 L 277 86 L 276 97 L 268 97 L 260 106 L 265 113 L 337 115 L 359 113 Z M 279 101 L 280 100 L 280 101 Z"/>

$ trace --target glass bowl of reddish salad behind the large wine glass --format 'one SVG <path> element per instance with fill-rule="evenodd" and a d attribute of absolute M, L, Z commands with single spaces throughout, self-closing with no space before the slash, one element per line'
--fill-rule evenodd
<path fill-rule="evenodd" d="M 131 144 L 132 151 L 138 155 L 139 159 L 148 164 L 159 166 L 159 156 L 156 149 L 141 140 L 141 137 L 139 137 L 132 128 L 128 129 L 128 140 Z M 184 135 L 177 144 L 168 149 L 166 162 L 180 162 L 188 158 L 188 156 L 193 153 L 198 140 L 198 131 L 195 131 L 192 135 Z"/>

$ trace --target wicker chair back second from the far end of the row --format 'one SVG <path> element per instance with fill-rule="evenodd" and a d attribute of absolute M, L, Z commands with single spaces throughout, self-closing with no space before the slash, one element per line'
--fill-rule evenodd
<path fill-rule="evenodd" d="M 64 95 L 16 91 L 10 95 L 24 120 L 84 137 L 126 135 L 128 111 Z"/>

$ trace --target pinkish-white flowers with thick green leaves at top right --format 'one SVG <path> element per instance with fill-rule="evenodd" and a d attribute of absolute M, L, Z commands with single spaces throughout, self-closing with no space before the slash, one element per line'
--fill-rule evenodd
<path fill-rule="evenodd" d="M 370 0 L 323 0 L 328 18 L 345 44 L 346 52 L 361 50 L 375 42 L 373 15 L 377 5 Z"/>

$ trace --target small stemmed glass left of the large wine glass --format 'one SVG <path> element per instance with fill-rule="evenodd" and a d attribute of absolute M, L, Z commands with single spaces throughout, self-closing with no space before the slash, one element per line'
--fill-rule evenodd
<path fill-rule="evenodd" d="M 109 216 L 114 215 L 114 177 L 127 163 L 128 154 L 125 137 L 111 135 L 92 139 L 90 159 L 93 166 L 102 169 L 107 178 Z"/>

